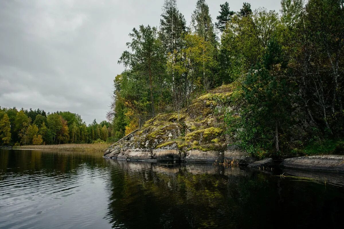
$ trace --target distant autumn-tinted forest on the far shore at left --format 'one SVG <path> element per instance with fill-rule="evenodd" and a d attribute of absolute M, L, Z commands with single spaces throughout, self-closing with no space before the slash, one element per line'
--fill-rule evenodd
<path fill-rule="evenodd" d="M 79 114 L 69 111 L 18 111 L 0 107 L 0 146 L 51 145 L 111 141 L 111 125 L 94 119 L 86 126 Z"/>

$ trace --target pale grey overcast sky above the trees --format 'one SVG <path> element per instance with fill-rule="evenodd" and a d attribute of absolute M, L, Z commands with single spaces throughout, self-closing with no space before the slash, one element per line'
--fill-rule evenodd
<path fill-rule="evenodd" d="M 225 0 L 208 0 L 216 20 Z M 228 0 L 238 11 L 242 1 Z M 252 9 L 280 9 L 254 0 Z M 196 0 L 177 0 L 190 24 Z M 163 0 L 0 0 L 0 106 L 105 120 L 117 61 L 140 24 L 159 26 Z"/>

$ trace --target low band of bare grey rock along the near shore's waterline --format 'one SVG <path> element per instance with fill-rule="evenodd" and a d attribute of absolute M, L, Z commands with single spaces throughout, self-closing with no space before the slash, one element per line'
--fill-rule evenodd
<path fill-rule="evenodd" d="M 108 149 L 104 153 L 105 158 L 126 160 L 126 161 L 145 161 L 145 162 L 184 162 L 184 163 L 215 163 L 224 161 L 235 161 L 241 166 L 252 169 L 271 170 L 273 168 L 315 170 L 326 172 L 344 172 L 344 156 L 322 155 L 288 158 L 277 164 L 272 158 L 257 161 L 249 157 L 246 153 L 239 151 L 201 151 L 189 150 L 186 153 L 176 149 L 169 150 L 147 150 L 147 149 L 127 149 L 120 147 Z"/>

